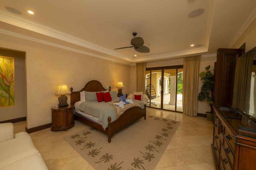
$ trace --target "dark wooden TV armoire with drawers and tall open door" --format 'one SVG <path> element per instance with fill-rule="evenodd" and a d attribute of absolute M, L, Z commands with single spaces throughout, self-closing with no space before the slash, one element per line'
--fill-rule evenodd
<path fill-rule="evenodd" d="M 212 150 L 218 170 L 256 170 L 256 124 L 229 107 L 234 81 L 230 75 L 234 75 L 235 61 L 242 54 L 243 49 L 217 51 Z"/>

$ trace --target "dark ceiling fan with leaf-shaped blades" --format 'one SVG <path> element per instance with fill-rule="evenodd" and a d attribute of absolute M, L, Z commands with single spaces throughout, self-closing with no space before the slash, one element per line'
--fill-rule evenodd
<path fill-rule="evenodd" d="M 150 51 L 149 48 L 147 46 L 143 45 L 144 44 L 143 38 L 142 37 L 136 37 L 137 32 L 134 32 L 132 34 L 134 36 L 134 38 L 131 39 L 131 45 L 132 46 L 116 48 L 114 50 L 123 49 L 123 48 L 132 48 L 133 47 L 134 50 L 136 50 L 136 51 L 138 51 L 140 53 L 149 53 L 149 51 Z"/>

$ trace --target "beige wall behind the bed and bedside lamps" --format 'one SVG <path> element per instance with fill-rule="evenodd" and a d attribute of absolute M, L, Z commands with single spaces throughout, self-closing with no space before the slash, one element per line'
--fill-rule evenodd
<path fill-rule="evenodd" d="M 104 87 L 111 85 L 112 90 L 117 90 L 116 83 L 122 81 L 123 92 L 130 91 L 129 65 L 5 34 L 0 37 L 0 47 L 26 51 L 28 128 L 51 122 L 50 108 L 58 104 L 58 96 L 54 94 L 58 84 L 79 91 L 88 81 L 96 79 Z"/>

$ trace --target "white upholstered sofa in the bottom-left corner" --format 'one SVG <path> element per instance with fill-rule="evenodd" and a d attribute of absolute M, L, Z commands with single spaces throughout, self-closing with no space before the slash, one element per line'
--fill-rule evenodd
<path fill-rule="evenodd" d="M 0 170 L 48 170 L 29 134 L 14 135 L 12 123 L 0 124 Z"/>

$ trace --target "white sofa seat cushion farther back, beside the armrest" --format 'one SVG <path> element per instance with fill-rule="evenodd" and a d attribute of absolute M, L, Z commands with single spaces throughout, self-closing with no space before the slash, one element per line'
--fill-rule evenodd
<path fill-rule="evenodd" d="M 15 139 L 0 143 L 0 168 L 38 153 L 28 133 L 15 136 Z"/>

